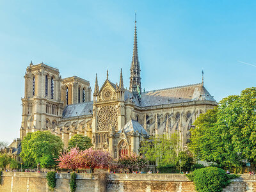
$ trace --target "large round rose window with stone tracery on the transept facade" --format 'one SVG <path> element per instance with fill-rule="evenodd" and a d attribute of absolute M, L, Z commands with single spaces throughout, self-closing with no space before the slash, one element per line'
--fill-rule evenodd
<path fill-rule="evenodd" d="M 117 126 L 117 111 L 114 106 L 104 106 L 97 114 L 97 122 L 100 130 L 108 130 Z"/>

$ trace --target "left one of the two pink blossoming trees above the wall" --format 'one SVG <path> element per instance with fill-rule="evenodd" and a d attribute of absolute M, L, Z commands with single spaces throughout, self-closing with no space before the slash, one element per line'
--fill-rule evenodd
<path fill-rule="evenodd" d="M 58 168 L 74 171 L 81 168 L 81 152 L 79 152 L 79 148 L 71 148 L 69 152 L 63 152 L 56 161 L 59 161 Z"/>

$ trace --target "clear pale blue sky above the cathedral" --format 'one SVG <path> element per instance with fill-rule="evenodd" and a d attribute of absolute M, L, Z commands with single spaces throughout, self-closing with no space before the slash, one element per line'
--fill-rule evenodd
<path fill-rule="evenodd" d="M 24 74 L 32 60 L 94 88 L 129 87 L 137 11 L 141 86 L 202 81 L 220 101 L 255 86 L 256 1 L 0 1 L 0 141 L 19 138 Z"/>

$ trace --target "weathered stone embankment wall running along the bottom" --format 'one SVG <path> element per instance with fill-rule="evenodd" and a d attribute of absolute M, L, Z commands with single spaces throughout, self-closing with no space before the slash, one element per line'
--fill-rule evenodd
<path fill-rule="evenodd" d="M 70 174 L 57 175 L 54 191 L 68 192 Z M 1 175 L 0 191 L 49 191 L 46 173 L 3 172 Z M 179 174 L 77 174 L 77 191 L 88 192 L 121 192 L 121 191 L 184 191 L 193 192 L 195 187 L 186 175 Z M 242 175 L 234 179 L 223 192 L 256 192 L 255 175 Z"/>

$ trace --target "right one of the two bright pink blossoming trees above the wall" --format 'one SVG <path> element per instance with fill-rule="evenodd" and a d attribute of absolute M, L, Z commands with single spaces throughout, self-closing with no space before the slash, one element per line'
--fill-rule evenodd
<path fill-rule="evenodd" d="M 99 149 L 88 148 L 81 151 L 81 168 L 108 169 L 112 164 L 112 157 L 108 152 Z"/>

